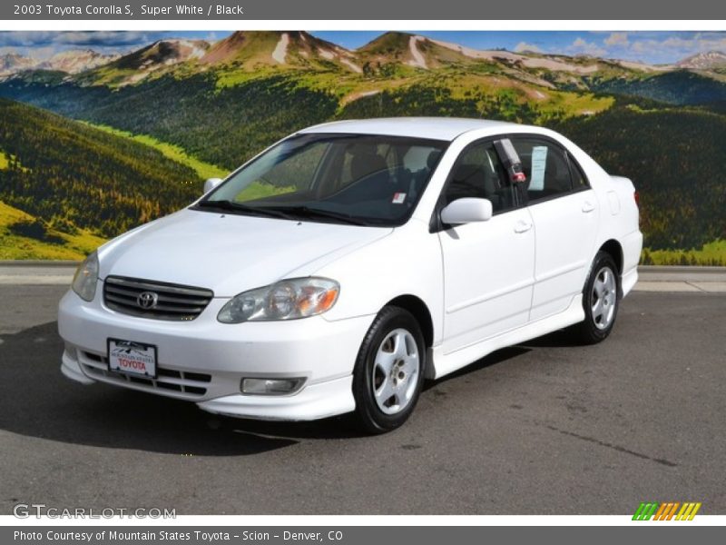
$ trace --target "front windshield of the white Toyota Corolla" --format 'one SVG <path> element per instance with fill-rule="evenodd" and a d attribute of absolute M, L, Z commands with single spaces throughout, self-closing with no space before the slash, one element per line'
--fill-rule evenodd
<path fill-rule="evenodd" d="M 197 210 L 359 225 L 400 225 L 445 142 L 368 134 L 299 134 L 222 183 Z"/>

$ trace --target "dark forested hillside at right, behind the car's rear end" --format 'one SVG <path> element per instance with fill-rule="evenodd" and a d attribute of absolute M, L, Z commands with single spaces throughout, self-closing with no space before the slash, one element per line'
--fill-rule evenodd
<path fill-rule="evenodd" d="M 726 116 L 619 104 L 557 127 L 609 173 L 633 180 L 652 249 L 726 240 Z"/>

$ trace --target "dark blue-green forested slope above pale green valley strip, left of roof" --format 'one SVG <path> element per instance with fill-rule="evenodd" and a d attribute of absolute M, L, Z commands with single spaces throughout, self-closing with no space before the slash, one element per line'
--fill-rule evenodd
<path fill-rule="evenodd" d="M 229 169 L 289 132 L 329 119 L 338 100 L 285 76 L 218 89 L 209 75 L 164 76 L 116 91 L 99 87 L 5 83 L 0 94 L 58 114 L 180 145 Z"/>

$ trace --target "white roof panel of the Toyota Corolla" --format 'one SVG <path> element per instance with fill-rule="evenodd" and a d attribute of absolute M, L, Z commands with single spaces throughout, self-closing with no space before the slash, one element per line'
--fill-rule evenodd
<path fill-rule="evenodd" d="M 354 119 L 318 124 L 300 131 L 309 133 L 345 134 L 386 134 L 389 136 L 409 136 L 452 141 L 456 136 L 487 129 L 492 134 L 542 132 L 540 127 L 522 124 L 490 121 L 486 119 L 466 119 L 464 117 L 381 117 L 376 119 Z"/>

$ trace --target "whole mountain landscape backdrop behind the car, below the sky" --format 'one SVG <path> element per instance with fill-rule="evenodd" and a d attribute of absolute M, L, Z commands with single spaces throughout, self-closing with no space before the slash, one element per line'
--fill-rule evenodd
<path fill-rule="evenodd" d="M 386 33 L 0 57 L 0 259 L 80 257 L 309 124 L 466 116 L 560 131 L 641 194 L 646 263 L 726 264 L 726 54 L 676 64 Z"/>

